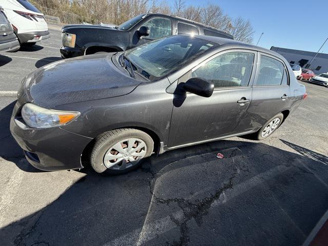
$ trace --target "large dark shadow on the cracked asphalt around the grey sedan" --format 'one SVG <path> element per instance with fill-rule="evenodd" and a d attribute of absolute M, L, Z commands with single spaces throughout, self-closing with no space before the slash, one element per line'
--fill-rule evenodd
<path fill-rule="evenodd" d="M 0 156 L 31 172 L 7 136 L 13 105 L 0 111 L 1 146 L 10 146 Z M 87 168 L 48 206 L 1 228 L 2 245 L 302 244 L 328 209 L 327 157 L 281 141 L 300 154 L 221 140 L 152 156 L 125 175 Z"/>

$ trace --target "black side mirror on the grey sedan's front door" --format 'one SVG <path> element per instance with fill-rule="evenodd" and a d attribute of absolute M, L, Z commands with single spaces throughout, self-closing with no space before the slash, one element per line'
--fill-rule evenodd
<path fill-rule="evenodd" d="M 213 94 L 214 84 L 206 79 L 190 78 L 183 85 L 183 89 L 198 96 L 210 97 Z"/>

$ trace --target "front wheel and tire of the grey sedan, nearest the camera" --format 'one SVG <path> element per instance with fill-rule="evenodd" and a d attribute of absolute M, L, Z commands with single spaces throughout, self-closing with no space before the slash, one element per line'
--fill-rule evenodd
<path fill-rule="evenodd" d="M 108 131 L 95 140 L 90 157 L 91 167 L 101 174 L 127 173 L 140 166 L 144 158 L 152 154 L 153 149 L 154 141 L 145 132 L 130 128 Z"/>

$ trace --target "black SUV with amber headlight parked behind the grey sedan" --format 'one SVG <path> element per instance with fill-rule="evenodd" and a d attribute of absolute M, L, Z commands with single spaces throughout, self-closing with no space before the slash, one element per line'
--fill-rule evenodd
<path fill-rule="evenodd" d="M 61 57 L 70 58 L 98 52 L 115 52 L 143 45 L 151 40 L 177 34 L 201 34 L 233 39 L 233 36 L 200 23 L 165 14 L 140 14 L 115 25 L 68 25 L 61 38 Z"/>

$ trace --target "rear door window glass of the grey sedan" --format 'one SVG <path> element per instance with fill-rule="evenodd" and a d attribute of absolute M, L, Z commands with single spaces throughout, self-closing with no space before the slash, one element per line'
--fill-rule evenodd
<path fill-rule="evenodd" d="M 260 55 L 260 66 L 258 71 L 258 77 L 255 83 L 256 86 L 279 86 L 287 84 L 285 68 L 277 59 Z"/>

